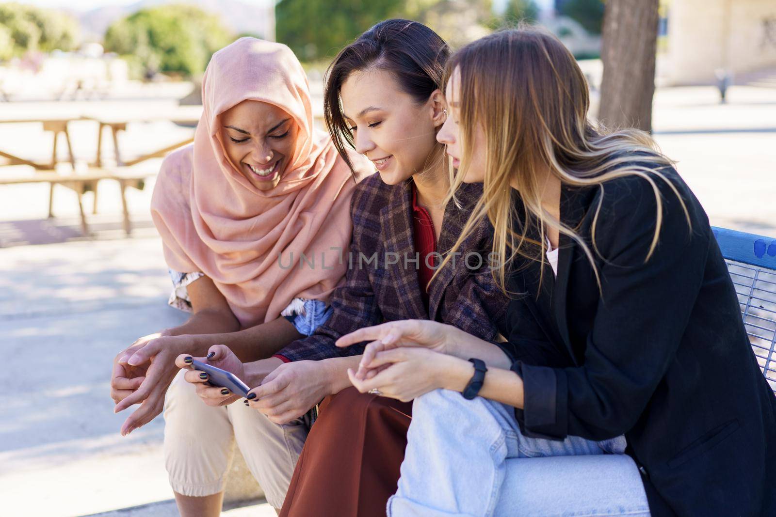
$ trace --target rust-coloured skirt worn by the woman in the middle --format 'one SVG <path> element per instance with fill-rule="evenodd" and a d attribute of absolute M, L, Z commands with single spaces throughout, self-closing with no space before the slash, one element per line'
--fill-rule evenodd
<path fill-rule="evenodd" d="M 407 447 L 412 402 L 347 388 L 320 405 L 281 517 L 386 515 Z"/>

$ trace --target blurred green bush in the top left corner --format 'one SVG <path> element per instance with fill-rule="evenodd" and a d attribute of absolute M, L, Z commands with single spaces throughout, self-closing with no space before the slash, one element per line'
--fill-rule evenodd
<path fill-rule="evenodd" d="M 28 50 L 73 50 L 79 27 L 63 12 L 8 2 L 0 3 L 0 33 L 0 59 L 9 59 Z"/>

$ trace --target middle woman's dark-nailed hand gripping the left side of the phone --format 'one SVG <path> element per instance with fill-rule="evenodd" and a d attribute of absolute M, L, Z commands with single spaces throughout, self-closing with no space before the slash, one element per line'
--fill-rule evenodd
<path fill-rule="evenodd" d="M 192 360 L 199 360 L 214 367 L 226 370 L 241 381 L 245 381 L 245 370 L 241 360 L 229 350 L 225 345 L 213 345 L 208 350 L 207 357 L 192 357 L 188 353 L 182 353 L 175 359 L 175 366 L 188 370 L 183 374 L 186 382 L 196 385 L 196 394 L 206 405 L 213 407 L 231 404 L 241 398 L 241 395 L 235 395 L 229 391 L 229 388 L 218 388 L 209 386 L 206 382 L 208 375 L 192 367 Z"/>

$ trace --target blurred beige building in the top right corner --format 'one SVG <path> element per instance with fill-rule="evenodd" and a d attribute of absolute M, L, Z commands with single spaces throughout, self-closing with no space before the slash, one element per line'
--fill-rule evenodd
<path fill-rule="evenodd" d="M 667 40 L 660 78 L 708 83 L 720 71 L 776 68 L 776 0 L 664 0 Z"/>

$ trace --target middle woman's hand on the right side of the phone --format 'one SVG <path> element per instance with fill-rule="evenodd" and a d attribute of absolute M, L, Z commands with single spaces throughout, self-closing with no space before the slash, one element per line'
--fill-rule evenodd
<path fill-rule="evenodd" d="M 248 405 L 267 415 L 276 424 L 298 419 L 314 405 L 331 395 L 331 379 L 326 361 L 284 363 L 268 374 L 262 385 L 251 390 Z"/>

